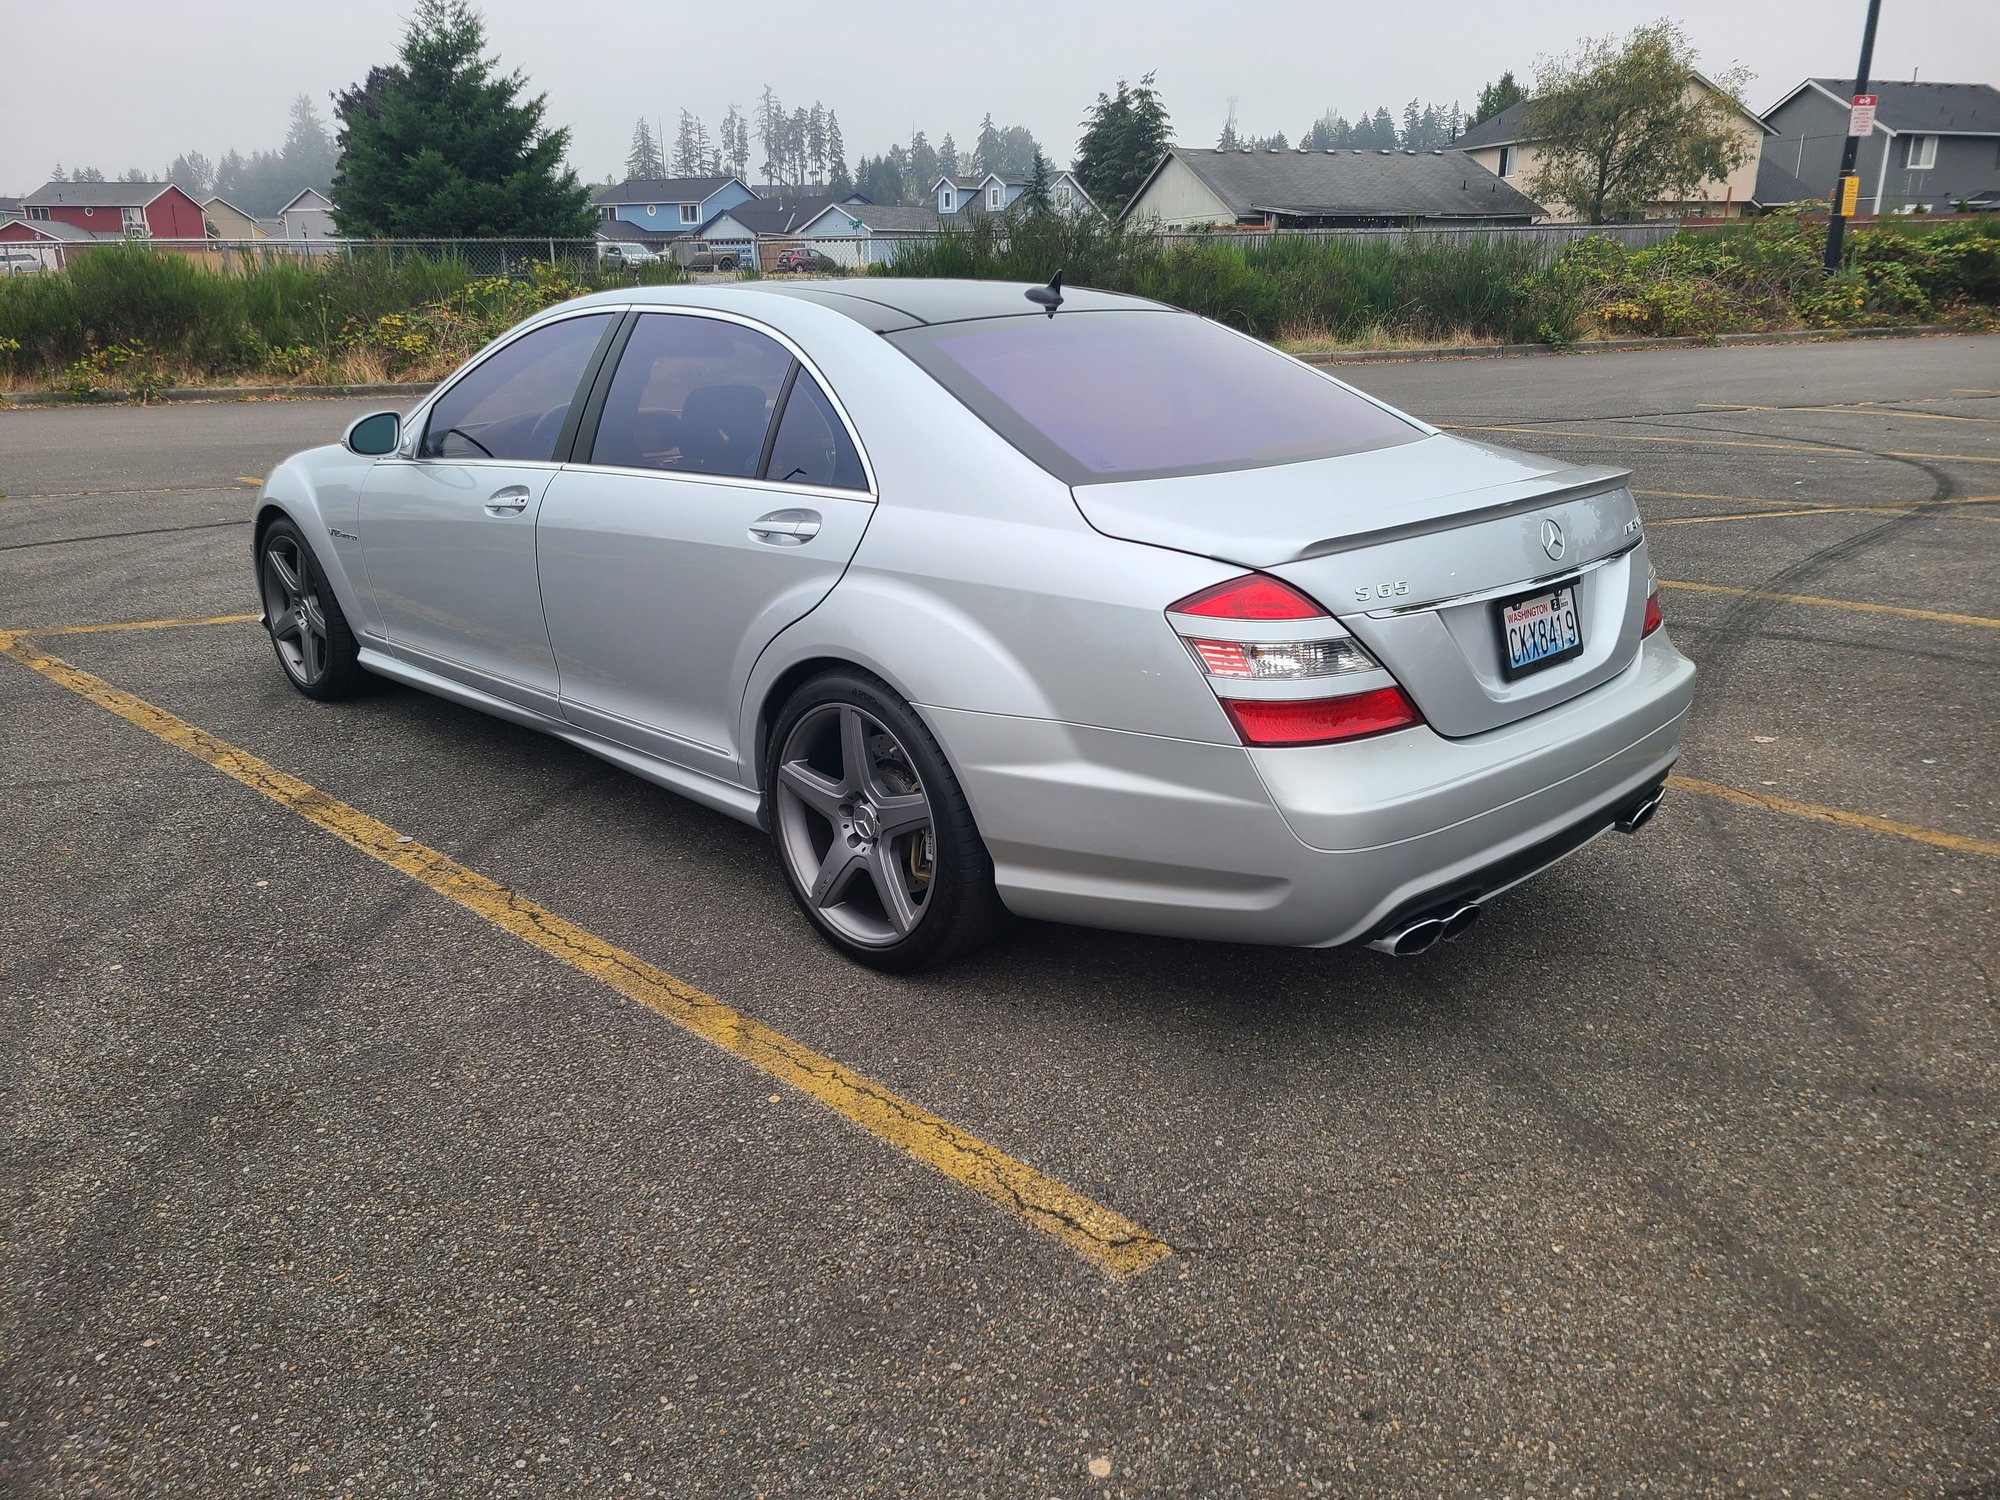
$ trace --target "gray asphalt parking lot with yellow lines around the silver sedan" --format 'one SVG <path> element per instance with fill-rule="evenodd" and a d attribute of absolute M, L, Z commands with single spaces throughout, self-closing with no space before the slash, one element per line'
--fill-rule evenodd
<path fill-rule="evenodd" d="M 0 1492 L 1994 1494 L 2000 338 L 1342 374 L 1634 470 L 1662 814 L 914 980 L 286 686 L 256 478 L 380 402 L 0 410 Z"/>

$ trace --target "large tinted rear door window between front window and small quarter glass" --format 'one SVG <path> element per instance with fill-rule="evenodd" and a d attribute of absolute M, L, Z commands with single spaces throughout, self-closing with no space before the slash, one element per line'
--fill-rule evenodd
<path fill-rule="evenodd" d="M 790 368 L 752 328 L 650 312 L 618 360 L 590 462 L 754 478 Z"/>

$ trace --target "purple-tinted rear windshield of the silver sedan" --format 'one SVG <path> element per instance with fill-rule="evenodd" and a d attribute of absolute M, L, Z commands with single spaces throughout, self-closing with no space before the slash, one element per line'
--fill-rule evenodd
<path fill-rule="evenodd" d="M 1184 312 L 1058 312 L 888 334 L 1066 484 L 1298 464 L 1422 430 Z"/>

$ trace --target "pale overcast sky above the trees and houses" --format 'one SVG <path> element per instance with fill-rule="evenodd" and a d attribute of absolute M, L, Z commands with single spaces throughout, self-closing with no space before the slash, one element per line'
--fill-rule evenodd
<path fill-rule="evenodd" d="M 274 148 L 286 110 L 386 62 L 408 0 L 6 0 L 8 100 L 0 110 L 0 192 L 38 186 L 56 162 L 164 172 L 184 150 L 210 158 Z M 1158 72 L 1182 144 L 1212 146 L 1230 96 L 1242 130 L 1298 136 L 1326 106 L 1350 118 L 1404 100 L 1470 106 L 1512 68 L 1578 36 L 1626 32 L 1662 12 L 1646 0 L 948 0 L 868 4 L 550 4 L 488 0 L 502 62 L 548 94 L 570 126 L 586 180 L 624 176 L 632 122 L 682 108 L 746 110 L 764 84 L 790 104 L 840 114 L 848 160 L 950 130 L 972 144 L 980 116 L 1026 124 L 1050 160 L 1120 74 Z M 1876 76 L 2000 82 L 2000 4 L 1884 0 Z M 1746 64 L 1752 108 L 1806 76 L 1852 74 L 1862 0 L 1680 0 L 1708 68 Z"/>

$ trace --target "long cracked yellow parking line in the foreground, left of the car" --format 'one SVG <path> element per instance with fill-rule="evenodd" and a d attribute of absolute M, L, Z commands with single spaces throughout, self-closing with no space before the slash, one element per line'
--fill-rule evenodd
<path fill-rule="evenodd" d="M 290 808 L 334 838 L 458 902 L 522 942 L 534 944 L 578 972 L 608 984 L 704 1042 L 778 1082 L 790 1084 L 878 1140 L 990 1198 L 1110 1276 L 1132 1276 L 1172 1254 L 1164 1240 L 1154 1238 L 1132 1220 L 966 1134 L 950 1120 L 938 1118 L 882 1084 L 732 1010 L 646 960 L 614 948 L 604 938 L 468 870 L 438 850 L 404 842 L 394 828 L 370 818 L 360 808 L 338 802 L 250 752 L 218 740 L 164 708 L 154 708 L 58 656 L 38 652 L 18 638 L 0 642 L 0 652 Z"/>

